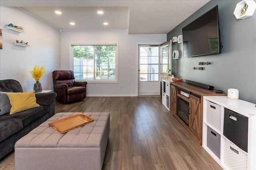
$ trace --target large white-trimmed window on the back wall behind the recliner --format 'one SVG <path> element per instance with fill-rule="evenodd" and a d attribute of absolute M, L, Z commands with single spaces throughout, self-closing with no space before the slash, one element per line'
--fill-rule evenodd
<path fill-rule="evenodd" d="M 76 80 L 117 81 L 117 43 L 71 43 L 72 68 Z"/>

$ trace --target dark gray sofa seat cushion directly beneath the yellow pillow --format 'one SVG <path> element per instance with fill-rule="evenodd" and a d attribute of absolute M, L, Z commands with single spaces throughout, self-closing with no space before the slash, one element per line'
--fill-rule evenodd
<path fill-rule="evenodd" d="M 25 127 L 28 124 L 30 124 L 32 121 L 35 121 L 36 119 L 41 118 L 46 113 L 48 114 L 48 112 L 49 112 L 48 106 L 39 106 L 32 109 L 20 111 L 12 115 L 9 115 L 9 114 L 1 115 L 0 121 L 2 122 L 2 120 L 6 120 L 6 119 L 19 118 L 19 119 L 22 119 L 23 126 Z"/>

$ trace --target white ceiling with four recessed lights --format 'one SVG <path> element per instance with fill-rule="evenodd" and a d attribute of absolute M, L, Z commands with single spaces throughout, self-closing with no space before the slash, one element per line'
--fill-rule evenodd
<path fill-rule="evenodd" d="M 129 34 L 166 34 L 210 0 L 0 0 L 57 29 L 128 30 Z M 60 10 L 61 15 L 55 14 Z M 98 10 L 104 14 L 97 14 Z M 70 25 L 74 22 L 75 25 Z M 108 22 L 108 25 L 103 25 Z"/>

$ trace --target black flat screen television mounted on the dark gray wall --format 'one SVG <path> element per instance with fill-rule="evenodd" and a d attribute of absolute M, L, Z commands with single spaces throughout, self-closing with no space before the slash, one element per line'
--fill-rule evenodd
<path fill-rule="evenodd" d="M 220 53 L 218 6 L 182 28 L 184 57 Z"/>

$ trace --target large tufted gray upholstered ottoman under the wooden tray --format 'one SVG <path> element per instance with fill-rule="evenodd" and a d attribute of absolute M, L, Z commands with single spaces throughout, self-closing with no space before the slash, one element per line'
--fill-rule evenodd
<path fill-rule="evenodd" d="M 48 123 L 86 114 L 94 119 L 60 134 Z M 16 170 L 100 170 L 108 143 L 109 113 L 57 113 L 15 144 Z"/>

